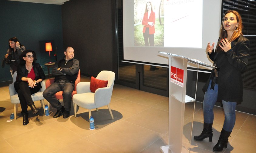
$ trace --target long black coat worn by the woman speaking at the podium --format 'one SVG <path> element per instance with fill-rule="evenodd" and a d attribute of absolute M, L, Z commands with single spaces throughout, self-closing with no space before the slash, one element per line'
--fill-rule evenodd
<path fill-rule="evenodd" d="M 245 71 L 248 64 L 250 41 L 244 36 L 239 36 L 231 42 L 231 49 L 227 52 L 221 51 L 208 53 L 210 59 L 216 64 L 218 71 L 218 99 L 224 101 L 243 101 L 243 82 L 241 72 Z M 206 92 L 209 81 L 204 85 Z"/>

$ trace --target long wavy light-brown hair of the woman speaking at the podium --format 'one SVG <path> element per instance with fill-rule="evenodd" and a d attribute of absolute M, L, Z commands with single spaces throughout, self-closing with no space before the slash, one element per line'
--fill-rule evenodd
<path fill-rule="evenodd" d="M 238 23 L 238 27 L 235 29 L 235 31 L 233 32 L 233 34 L 231 36 L 231 39 L 228 40 L 228 41 L 229 42 L 234 41 L 240 35 L 243 35 L 243 33 L 242 33 L 243 24 L 242 24 L 241 15 L 235 10 L 227 10 L 226 13 L 224 14 L 224 17 L 223 17 L 222 22 L 221 22 L 221 29 L 220 29 L 220 35 L 219 35 L 220 39 L 219 39 L 219 41 L 217 43 L 217 46 L 216 46 L 217 53 L 222 50 L 221 47 L 219 47 L 219 44 L 221 44 L 221 39 L 227 38 L 227 31 L 224 29 L 223 22 L 224 22 L 224 18 L 226 16 L 226 14 L 228 14 L 228 13 L 233 13 L 236 16 L 236 20 L 237 20 L 237 23 Z"/>

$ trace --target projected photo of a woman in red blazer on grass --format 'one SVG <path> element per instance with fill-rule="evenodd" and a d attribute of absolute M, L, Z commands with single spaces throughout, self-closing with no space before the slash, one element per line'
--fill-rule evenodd
<path fill-rule="evenodd" d="M 134 46 L 163 46 L 163 0 L 134 0 Z"/>

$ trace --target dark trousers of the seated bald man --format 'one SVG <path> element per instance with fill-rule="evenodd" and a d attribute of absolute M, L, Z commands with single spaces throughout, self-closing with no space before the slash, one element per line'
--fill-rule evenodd
<path fill-rule="evenodd" d="M 54 96 L 55 93 L 59 91 L 63 91 L 63 103 L 66 111 L 71 110 L 71 102 L 72 102 L 72 92 L 75 88 L 75 84 L 70 81 L 57 81 L 52 83 L 48 88 L 43 92 L 44 98 L 52 105 L 52 107 L 56 109 L 61 109 L 61 103 Z"/>

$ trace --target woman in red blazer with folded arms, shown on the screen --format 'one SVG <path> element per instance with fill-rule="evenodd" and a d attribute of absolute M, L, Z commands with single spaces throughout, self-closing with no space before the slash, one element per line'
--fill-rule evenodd
<path fill-rule="evenodd" d="M 142 20 L 142 25 L 144 26 L 142 32 L 143 32 L 143 37 L 145 41 L 145 46 L 149 46 L 149 44 L 150 46 L 155 46 L 154 44 L 155 21 L 156 21 L 156 13 L 153 12 L 151 2 L 147 2 L 144 17 Z"/>

